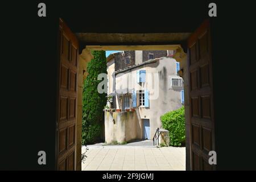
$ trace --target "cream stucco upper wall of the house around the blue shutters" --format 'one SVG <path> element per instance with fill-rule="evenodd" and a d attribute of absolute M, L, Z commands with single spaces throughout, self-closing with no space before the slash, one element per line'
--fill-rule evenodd
<path fill-rule="evenodd" d="M 141 69 L 146 70 L 146 82 L 139 85 L 136 78 L 137 71 Z M 169 57 L 162 57 L 156 63 L 146 64 L 115 76 L 116 90 L 126 90 L 128 87 L 135 90 L 147 88 L 149 91 L 150 106 L 139 106 L 137 110 L 139 118 L 150 119 L 151 139 L 154 137 L 156 129 L 162 127 L 160 116 L 182 106 L 181 89 L 183 88 L 169 89 L 168 77 L 179 77 L 176 73 L 176 60 Z M 154 85 L 156 80 L 159 82 Z"/>

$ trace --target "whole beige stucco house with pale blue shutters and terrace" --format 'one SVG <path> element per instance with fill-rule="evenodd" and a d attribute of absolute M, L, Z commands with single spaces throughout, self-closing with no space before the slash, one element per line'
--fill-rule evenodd
<path fill-rule="evenodd" d="M 162 127 L 160 116 L 184 104 L 183 79 L 177 75 L 179 63 L 172 55 L 165 50 L 123 51 L 108 56 L 109 107 L 121 112 L 105 113 L 107 143 L 152 139 Z"/>

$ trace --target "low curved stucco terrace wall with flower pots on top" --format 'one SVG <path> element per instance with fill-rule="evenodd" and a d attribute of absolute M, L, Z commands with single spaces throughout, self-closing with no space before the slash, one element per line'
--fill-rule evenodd
<path fill-rule="evenodd" d="M 113 122 L 113 119 L 115 122 Z M 142 125 L 137 113 L 133 112 L 107 112 L 105 111 L 105 141 L 128 142 L 142 138 Z"/>

